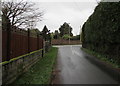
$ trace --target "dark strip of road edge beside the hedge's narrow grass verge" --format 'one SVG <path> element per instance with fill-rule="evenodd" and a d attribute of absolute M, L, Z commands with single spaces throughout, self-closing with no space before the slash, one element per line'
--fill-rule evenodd
<path fill-rule="evenodd" d="M 115 80 L 117 80 L 118 83 L 120 84 L 120 71 L 118 71 L 117 68 L 114 68 L 112 65 L 96 58 L 94 55 L 91 55 L 91 54 L 85 52 L 83 49 L 81 49 L 81 50 L 88 55 L 88 56 L 86 56 L 86 59 L 88 59 L 93 64 L 96 64 L 104 72 L 107 72 L 111 77 L 113 77 Z"/>

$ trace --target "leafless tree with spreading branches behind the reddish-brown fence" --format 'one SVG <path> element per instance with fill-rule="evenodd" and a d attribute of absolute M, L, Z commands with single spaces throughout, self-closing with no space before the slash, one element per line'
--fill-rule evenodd
<path fill-rule="evenodd" d="M 34 8 L 35 4 L 30 2 L 2 2 L 2 14 L 4 14 L 11 23 L 11 26 L 28 27 L 30 23 L 35 24 L 41 21 L 43 12 L 38 12 Z"/>

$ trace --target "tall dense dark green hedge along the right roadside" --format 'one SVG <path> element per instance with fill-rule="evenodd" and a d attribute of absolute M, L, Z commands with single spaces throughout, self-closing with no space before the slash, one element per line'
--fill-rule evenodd
<path fill-rule="evenodd" d="M 120 2 L 100 2 L 82 27 L 83 47 L 120 62 Z"/>

